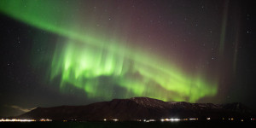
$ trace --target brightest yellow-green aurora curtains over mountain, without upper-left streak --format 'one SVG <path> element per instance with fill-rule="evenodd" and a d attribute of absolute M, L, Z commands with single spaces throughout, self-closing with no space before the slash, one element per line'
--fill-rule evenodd
<path fill-rule="evenodd" d="M 121 54 L 114 52 L 116 50 Z M 121 48 L 115 48 L 114 45 L 100 49 L 88 45 L 81 47 L 71 42 L 61 53 L 55 53 L 51 78 L 61 74 L 61 88 L 64 88 L 65 84 L 73 84 L 84 90 L 89 97 L 113 98 L 111 91 L 102 93 L 106 91 L 102 90 L 102 86 L 106 84 L 101 83 L 101 77 L 110 80 L 108 90 L 112 90 L 113 85 L 119 85 L 125 88 L 124 95 L 127 97 L 152 96 L 162 100 L 180 101 L 186 100 L 183 97 L 187 97 L 189 102 L 195 102 L 202 96 L 216 94 L 216 84 L 204 83 L 201 78 L 190 79 L 179 73 L 175 67 L 157 67 L 145 58 L 142 61 L 132 60 L 134 56 L 128 55 L 130 54 L 125 54 Z M 180 96 L 173 95 L 173 92 Z"/>

